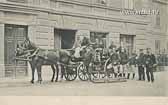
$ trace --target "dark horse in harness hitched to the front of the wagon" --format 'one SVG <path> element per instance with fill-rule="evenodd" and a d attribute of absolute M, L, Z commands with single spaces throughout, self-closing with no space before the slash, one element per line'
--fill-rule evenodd
<path fill-rule="evenodd" d="M 28 38 L 20 45 L 17 45 L 16 57 L 30 58 L 29 63 L 32 69 L 31 83 L 34 83 L 35 69 L 37 69 L 38 73 L 38 82 L 42 82 L 41 68 L 43 65 L 51 65 L 53 70 L 51 82 L 54 81 L 55 73 L 55 82 L 57 82 L 59 74 L 59 63 L 68 64 L 71 59 L 69 51 L 61 49 L 41 49 L 35 46 L 35 44 L 32 43 Z M 61 77 L 63 78 L 63 74 Z"/>

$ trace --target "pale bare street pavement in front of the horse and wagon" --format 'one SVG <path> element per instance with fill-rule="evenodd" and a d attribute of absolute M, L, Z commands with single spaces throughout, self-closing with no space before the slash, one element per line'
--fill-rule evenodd
<path fill-rule="evenodd" d="M 127 82 L 94 84 L 75 80 L 30 84 L 28 79 L 0 81 L 0 95 L 8 96 L 167 96 L 168 71 L 156 72 L 155 82 L 127 80 Z"/>

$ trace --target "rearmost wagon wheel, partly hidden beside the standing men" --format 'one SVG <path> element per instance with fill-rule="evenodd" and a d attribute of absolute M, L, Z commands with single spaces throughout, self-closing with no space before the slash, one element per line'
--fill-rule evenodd
<path fill-rule="evenodd" d="M 104 65 L 104 72 L 108 78 L 113 78 L 114 76 L 114 68 L 110 64 L 110 58 L 106 60 Z"/>

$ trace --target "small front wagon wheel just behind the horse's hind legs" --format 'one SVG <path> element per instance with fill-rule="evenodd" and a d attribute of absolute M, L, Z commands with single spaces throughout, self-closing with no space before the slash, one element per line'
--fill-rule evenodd
<path fill-rule="evenodd" d="M 64 72 L 64 77 L 67 81 L 74 81 L 77 78 L 77 68 L 66 67 Z"/>

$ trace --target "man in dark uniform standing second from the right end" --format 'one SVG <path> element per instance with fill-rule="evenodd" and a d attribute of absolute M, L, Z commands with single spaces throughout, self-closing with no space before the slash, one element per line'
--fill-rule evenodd
<path fill-rule="evenodd" d="M 137 59 L 137 65 L 138 65 L 139 80 L 144 80 L 145 81 L 144 52 L 143 52 L 143 49 L 139 50 L 139 56 L 138 56 L 138 59 Z"/>

